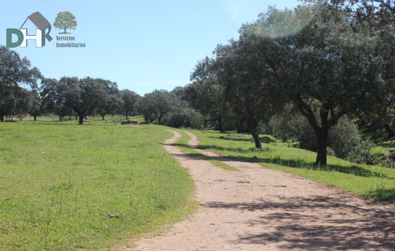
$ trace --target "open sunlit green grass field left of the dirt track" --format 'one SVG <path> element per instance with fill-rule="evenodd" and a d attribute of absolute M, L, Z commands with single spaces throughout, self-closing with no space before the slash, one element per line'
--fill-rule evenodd
<path fill-rule="evenodd" d="M 0 123 L 0 250 L 110 247 L 194 209 L 192 181 L 161 144 L 173 134 L 120 120 Z"/>

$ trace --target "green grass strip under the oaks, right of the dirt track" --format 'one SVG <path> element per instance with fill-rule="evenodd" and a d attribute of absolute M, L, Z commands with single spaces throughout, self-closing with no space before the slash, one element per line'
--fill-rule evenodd
<path fill-rule="evenodd" d="M 285 143 L 271 142 L 270 137 L 265 137 L 262 149 L 256 149 L 250 135 L 188 131 L 200 138 L 200 148 L 395 204 L 395 169 L 356 165 L 331 156 L 328 156 L 328 165 L 320 167 L 314 165 L 316 153 L 288 147 Z"/>

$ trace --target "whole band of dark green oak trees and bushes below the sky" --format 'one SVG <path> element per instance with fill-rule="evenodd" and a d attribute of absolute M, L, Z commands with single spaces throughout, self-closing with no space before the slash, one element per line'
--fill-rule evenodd
<path fill-rule="evenodd" d="M 3 46 L 0 118 L 51 113 L 83 124 L 88 114 L 137 113 L 147 124 L 248 132 L 256 148 L 261 133 L 293 139 L 326 165 L 328 151 L 362 151 L 356 120 L 395 136 L 394 10 L 376 0 L 269 7 L 200 60 L 190 84 L 144 96 L 103 79 L 45 79 Z"/>

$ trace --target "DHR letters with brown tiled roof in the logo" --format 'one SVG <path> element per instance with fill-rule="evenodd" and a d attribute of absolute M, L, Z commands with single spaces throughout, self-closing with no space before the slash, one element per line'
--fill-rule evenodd
<path fill-rule="evenodd" d="M 27 29 L 22 29 L 23 24 L 30 19 L 34 25 L 36 25 L 36 36 L 27 35 Z M 21 47 L 27 47 L 27 40 L 32 39 L 36 40 L 36 47 L 44 47 L 45 46 L 45 38 L 50 42 L 52 37 L 49 36 L 49 32 L 51 32 L 51 24 L 48 22 L 40 12 L 34 12 L 32 15 L 28 16 L 26 20 L 23 22 L 20 30 L 17 29 L 7 29 L 7 47 L 14 48 L 21 45 Z M 48 33 L 45 34 L 45 29 L 48 28 Z M 18 36 L 18 41 L 15 43 L 12 42 L 12 34 Z"/>

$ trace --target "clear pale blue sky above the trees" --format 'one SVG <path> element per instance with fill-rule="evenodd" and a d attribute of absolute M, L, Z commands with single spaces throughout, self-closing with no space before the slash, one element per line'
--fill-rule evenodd
<path fill-rule="evenodd" d="M 51 24 L 60 11 L 71 11 L 76 30 L 67 30 L 85 48 L 56 48 L 63 30 L 52 27 L 51 42 L 36 48 L 16 47 L 45 77 L 86 76 L 117 82 L 120 90 L 143 95 L 154 89 L 172 90 L 188 84 L 198 60 L 211 56 L 218 43 L 238 37 L 244 22 L 254 21 L 267 6 L 293 8 L 297 0 L 146 0 L 146 1 L 6 1 L 0 9 L 0 44 L 6 29 L 19 29 L 39 11 Z M 29 20 L 23 28 L 34 35 Z M 16 39 L 13 40 L 15 42 Z"/>

